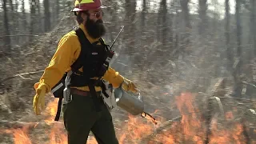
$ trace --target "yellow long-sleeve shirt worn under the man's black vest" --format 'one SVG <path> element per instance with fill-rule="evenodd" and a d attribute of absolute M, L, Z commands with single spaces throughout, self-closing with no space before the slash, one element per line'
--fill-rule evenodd
<path fill-rule="evenodd" d="M 98 39 L 90 37 L 83 25 L 79 27 L 86 34 L 86 38 L 89 42 L 93 43 L 98 41 Z M 70 66 L 77 60 L 80 52 L 81 46 L 75 31 L 70 31 L 68 34 L 64 35 L 58 43 L 58 49 L 51 59 L 49 66 L 46 67 L 44 74 L 40 78 L 38 87 L 46 86 L 46 92 L 50 92 L 51 88 L 58 83 L 63 74 L 71 70 Z M 82 68 L 79 70 L 82 71 Z M 115 88 L 120 86 L 124 79 L 122 75 L 118 74 L 118 72 L 111 67 L 109 67 L 102 78 L 110 82 Z M 78 87 L 78 89 L 89 91 L 88 86 Z M 95 90 L 99 91 L 101 87 L 95 86 Z"/>

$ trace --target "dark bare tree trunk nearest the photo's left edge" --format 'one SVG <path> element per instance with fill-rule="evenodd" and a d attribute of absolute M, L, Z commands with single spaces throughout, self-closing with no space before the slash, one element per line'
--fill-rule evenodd
<path fill-rule="evenodd" d="M 6 7 L 6 0 L 2 0 L 2 7 L 3 7 L 3 18 L 4 18 L 4 26 L 5 26 L 5 38 L 4 38 L 4 42 L 5 42 L 5 49 L 3 50 L 4 52 L 6 50 L 10 50 L 10 37 L 8 37 L 8 35 L 10 35 L 10 29 L 9 29 L 9 21 L 8 21 L 8 14 L 7 14 L 7 7 Z"/>

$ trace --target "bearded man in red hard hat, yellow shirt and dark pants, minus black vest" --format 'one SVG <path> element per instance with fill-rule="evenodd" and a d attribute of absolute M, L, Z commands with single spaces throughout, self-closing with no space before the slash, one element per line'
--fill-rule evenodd
<path fill-rule="evenodd" d="M 72 12 L 77 16 L 79 28 L 86 36 L 84 42 L 88 41 L 92 46 L 94 43 L 97 43 L 97 46 L 102 46 L 102 42 L 98 42 L 106 33 L 102 21 L 102 2 L 100 0 L 80 0 L 80 2 L 77 0 Z M 96 56 L 100 55 L 103 48 L 100 47 L 101 50 L 92 54 L 96 54 Z M 96 49 L 98 48 L 93 48 L 93 50 Z M 35 114 L 40 114 L 44 109 L 46 93 L 50 92 L 53 86 L 59 82 L 63 74 L 71 70 L 70 66 L 78 59 L 80 53 L 82 54 L 81 51 L 81 42 L 76 31 L 71 31 L 62 37 L 49 66 L 46 67 L 40 81 L 34 85 L 36 90 L 34 96 Z M 100 59 L 102 58 L 98 58 L 98 60 L 95 60 L 95 58 L 94 61 L 101 62 Z M 78 71 L 82 75 L 92 74 L 95 76 L 98 63 L 93 63 L 94 61 L 90 62 L 86 59 L 86 64 L 83 64 L 83 67 Z M 80 80 L 82 79 L 82 76 L 79 74 L 76 74 L 76 77 Z M 94 78 L 97 79 L 100 77 L 101 75 L 96 75 Z M 79 81 L 78 79 L 76 81 Z M 138 92 L 133 82 L 123 78 L 122 75 L 110 67 L 102 75 L 102 79 L 110 82 L 114 88 L 122 86 L 125 90 L 130 90 L 134 93 Z M 70 87 L 72 99 L 70 102 L 63 104 L 63 119 L 68 134 L 68 143 L 86 143 L 90 130 L 93 132 L 98 143 L 118 143 L 110 111 L 104 105 L 104 102 L 102 102 L 100 93 L 102 87 L 94 85 L 94 90 L 96 91 L 94 95 L 90 93 L 88 83 L 81 81 L 79 84 L 81 85 L 81 83 L 83 83 L 82 86 L 74 85 Z"/>

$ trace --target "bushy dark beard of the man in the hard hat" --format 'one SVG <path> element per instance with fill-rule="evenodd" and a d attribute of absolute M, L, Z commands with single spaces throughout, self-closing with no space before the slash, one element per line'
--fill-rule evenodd
<path fill-rule="evenodd" d="M 106 27 L 103 25 L 102 19 L 98 19 L 96 22 L 94 22 L 87 17 L 86 30 L 92 38 L 101 38 L 104 34 L 106 34 Z"/>

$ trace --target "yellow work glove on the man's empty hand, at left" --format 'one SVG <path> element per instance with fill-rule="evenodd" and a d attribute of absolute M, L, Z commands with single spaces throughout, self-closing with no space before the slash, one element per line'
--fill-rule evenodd
<path fill-rule="evenodd" d="M 39 115 L 45 109 L 46 86 L 35 83 L 34 88 L 36 90 L 33 100 L 34 113 Z"/>

